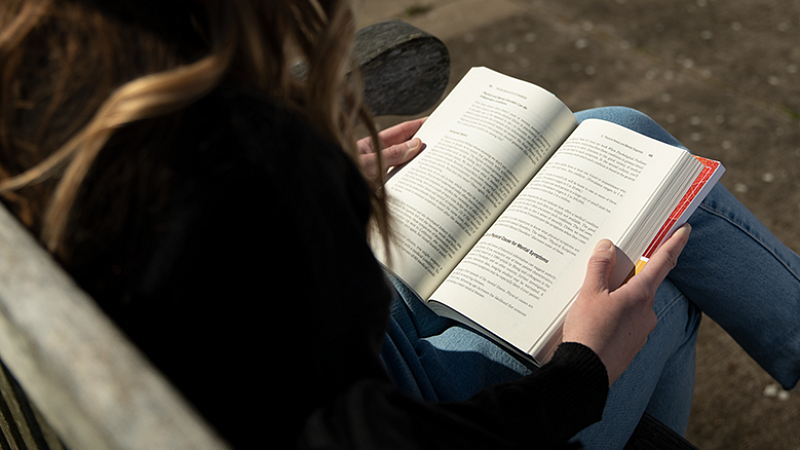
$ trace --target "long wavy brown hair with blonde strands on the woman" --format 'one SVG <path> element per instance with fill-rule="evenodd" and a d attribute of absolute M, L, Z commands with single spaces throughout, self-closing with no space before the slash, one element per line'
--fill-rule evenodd
<path fill-rule="evenodd" d="M 302 111 L 359 164 L 356 123 L 378 139 L 353 33 L 344 0 L 0 0 L 0 194 L 68 257 L 76 198 L 111 136 L 227 77 Z M 304 79 L 291 71 L 301 61 Z M 387 236 L 386 202 L 372 187 Z"/>

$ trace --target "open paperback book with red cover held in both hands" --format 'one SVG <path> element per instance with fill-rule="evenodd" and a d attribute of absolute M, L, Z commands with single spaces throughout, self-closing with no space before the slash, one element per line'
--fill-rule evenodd
<path fill-rule="evenodd" d="M 534 362 L 560 342 L 602 238 L 611 287 L 688 219 L 718 162 L 600 120 L 553 94 L 472 69 L 417 133 L 427 148 L 385 185 L 394 215 L 378 260 L 435 312 Z"/>

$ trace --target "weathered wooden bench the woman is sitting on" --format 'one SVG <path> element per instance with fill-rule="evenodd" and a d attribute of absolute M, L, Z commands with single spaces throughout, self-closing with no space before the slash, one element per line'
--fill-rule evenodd
<path fill-rule="evenodd" d="M 376 115 L 422 113 L 449 78 L 444 44 L 402 22 L 359 31 L 356 57 Z M 646 416 L 628 448 L 693 448 L 664 428 Z M 229 447 L 0 206 L 0 449 L 62 448 Z"/>

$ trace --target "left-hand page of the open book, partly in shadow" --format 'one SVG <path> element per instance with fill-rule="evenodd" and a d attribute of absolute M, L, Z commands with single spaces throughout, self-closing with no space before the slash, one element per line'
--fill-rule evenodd
<path fill-rule="evenodd" d="M 577 121 L 551 93 L 472 69 L 417 133 L 426 149 L 385 189 L 391 260 L 376 257 L 427 298 L 563 142 Z"/>

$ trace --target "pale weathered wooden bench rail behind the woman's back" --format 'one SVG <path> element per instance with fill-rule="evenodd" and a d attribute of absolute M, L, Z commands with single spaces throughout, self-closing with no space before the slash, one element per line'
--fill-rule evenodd
<path fill-rule="evenodd" d="M 0 249 L 0 355 L 67 447 L 227 448 L 5 208 Z"/>

